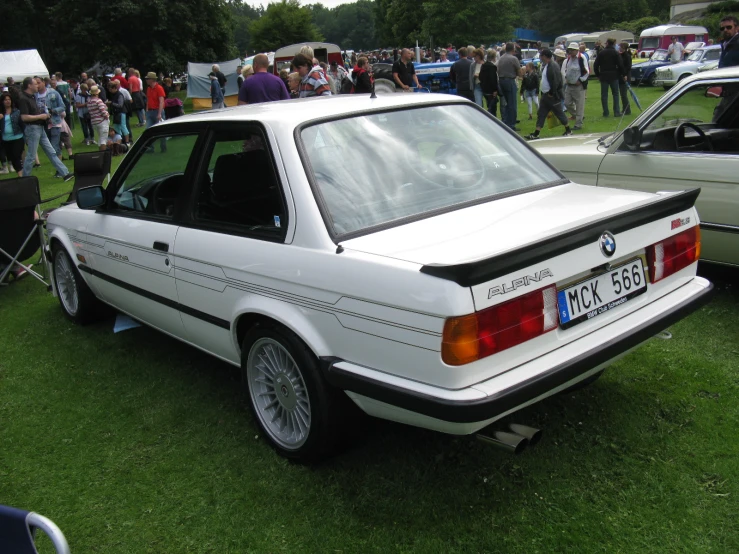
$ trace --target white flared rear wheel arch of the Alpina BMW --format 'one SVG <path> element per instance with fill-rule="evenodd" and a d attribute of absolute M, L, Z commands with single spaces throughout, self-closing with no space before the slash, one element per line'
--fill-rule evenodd
<path fill-rule="evenodd" d="M 306 310 L 294 304 L 266 297 L 255 297 L 248 305 L 237 307 L 231 332 L 237 352 L 246 333 L 255 325 L 277 324 L 295 333 L 317 357 L 330 355 L 328 344 L 306 315 Z"/>

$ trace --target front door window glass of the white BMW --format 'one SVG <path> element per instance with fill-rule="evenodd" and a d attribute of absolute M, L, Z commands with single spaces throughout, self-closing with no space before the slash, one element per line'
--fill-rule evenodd
<path fill-rule="evenodd" d="M 172 217 L 198 135 L 150 139 L 124 175 L 113 199 L 119 210 Z"/>

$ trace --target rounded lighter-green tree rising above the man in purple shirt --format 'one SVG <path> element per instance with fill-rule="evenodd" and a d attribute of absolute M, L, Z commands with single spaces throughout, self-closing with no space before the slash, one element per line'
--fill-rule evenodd
<path fill-rule="evenodd" d="M 271 52 L 298 42 L 323 40 L 311 19 L 310 9 L 301 7 L 298 0 L 270 4 L 264 15 L 252 22 L 249 31 L 251 47 L 259 52 Z"/>

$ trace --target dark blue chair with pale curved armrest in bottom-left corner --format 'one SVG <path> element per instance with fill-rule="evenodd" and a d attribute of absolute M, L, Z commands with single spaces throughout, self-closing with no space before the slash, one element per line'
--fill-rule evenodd
<path fill-rule="evenodd" d="M 0 551 L 38 554 L 34 543 L 36 529 L 41 529 L 49 536 L 57 554 L 70 554 L 64 533 L 49 518 L 0 505 Z"/>

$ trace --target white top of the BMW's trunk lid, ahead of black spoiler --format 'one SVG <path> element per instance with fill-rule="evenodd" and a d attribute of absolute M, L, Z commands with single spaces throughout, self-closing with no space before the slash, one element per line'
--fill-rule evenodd
<path fill-rule="evenodd" d="M 569 183 L 377 231 L 341 245 L 422 265 L 459 264 L 515 250 L 655 198 L 644 192 Z"/>

